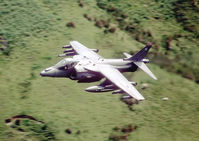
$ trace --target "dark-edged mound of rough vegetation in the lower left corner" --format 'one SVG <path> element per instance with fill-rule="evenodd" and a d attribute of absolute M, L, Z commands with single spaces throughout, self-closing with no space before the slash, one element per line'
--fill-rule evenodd
<path fill-rule="evenodd" d="M 18 117 L 30 117 L 27 115 L 19 115 Z M 32 118 L 32 117 L 31 117 Z M 7 134 L 15 140 L 19 138 L 20 140 L 55 140 L 54 133 L 49 129 L 49 127 L 40 121 L 31 120 L 29 118 L 16 118 L 16 119 L 6 119 L 8 127 L 12 129 L 12 132 L 8 131 Z M 16 133 L 15 133 L 16 132 Z M 18 134 L 17 134 L 18 133 Z M 20 134 L 24 133 L 24 134 Z M 11 137 L 12 136 L 12 137 Z"/>

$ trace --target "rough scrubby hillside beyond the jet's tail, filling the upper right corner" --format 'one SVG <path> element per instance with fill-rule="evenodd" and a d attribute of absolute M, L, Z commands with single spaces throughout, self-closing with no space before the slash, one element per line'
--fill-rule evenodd
<path fill-rule="evenodd" d="M 114 17 L 118 28 L 128 32 L 138 42 L 153 42 L 155 54 L 165 54 L 164 57 L 172 60 L 169 66 L 164 66 L 168 71 L 197 82 L 197 1 L 149 1 L 133 3 L 133 0 L 98 0 L 97 4 Z"/>

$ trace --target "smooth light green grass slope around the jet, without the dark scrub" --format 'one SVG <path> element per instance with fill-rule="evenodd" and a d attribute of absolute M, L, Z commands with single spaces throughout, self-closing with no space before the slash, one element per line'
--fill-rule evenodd
<path fill-rule="evenodd" d="M 85 19 L 83 14 L 88 13 L 98 19 L 113 18 L 112 15 L 99 8 L 95 1 L 83 2 L 83 8 L 72 0 L 1 2 L 0 33 L 11 50 L 9 56 L 0 56 L 0 140 L 46 140 L 46 136 L 37 131 L 34 134 L 20 133 L 5 125 L 6 118 L 18 114 L 31 115 L 45 122 L 55 140 L 106 141 L 115 126 L 128 124 L 138 126 L 129 140 L 198 140 L 198 84 L 167 72 L 158 65 L 149 65 L 158 81 L 151 80 L 141 71 L 128 75 L 138 84 L 149 84 L 146 90 L 137 86 L 146 101 L 133 106 L 134 111 L 129 111 L 118 95 L 84 91 L 84 88 L 94 84 L 77 84 L 68 79 L 39 76 L 42 69 L 60 60 L 56 57 L 62 52 L 59 47 L 70 40 L 78 40 L 89 48 L 98 48 L 99 54 L 107 58 L 144 46 L 118 28 L 116 22 L 111 24 L 117 27 L 116 32 L 104 34 L 103 29 L 95 27 L 95 23 Z M 141 2 L 134 4 L 140 9 L 139 13 L 147 13 L 147 9 L 139 8 L 143 5 Z M 160 11 L 167 13 L 168 8 Z M 148 13 L 148 16 L 151 14 Z M 66 27 L 70 21 L 75 23 L 75 28 Z M 144 21 L 142 25 L 147 23 Z M 181 29 L 175 21 L 174 25 L 153 21 L 148 25 L 154 30 L 154 35 L 160 32 L 158 27 L 165 32 L 172 31 L 170 26 Z M 162 101 L 163 97 L 169 100 Z M 67 128 L 72 129 L 71 135 L 65 133 Z"/>

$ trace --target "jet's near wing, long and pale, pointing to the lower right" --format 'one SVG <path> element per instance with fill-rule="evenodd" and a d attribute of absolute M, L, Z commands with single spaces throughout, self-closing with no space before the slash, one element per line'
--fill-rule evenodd
<path fill-rule="evenodd" d="M 124 92 L 136 100 L 144 100 L 144 97 L 137 91 L 137 89 L 117 69 L 111 65 L 96 64 L 95 67 L 86 66 L 85 68 L 91 71 L 100 72 L 113 84 L 121 88 Z"/>

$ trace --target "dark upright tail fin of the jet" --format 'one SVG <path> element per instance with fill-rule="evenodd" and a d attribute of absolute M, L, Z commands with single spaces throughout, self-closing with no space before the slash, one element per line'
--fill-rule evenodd
<path fill-rule="evenodd" d="M 128 60 L 132 60 L 133 62 L 139 62 L 144 59 L 144 57 L 147 55 L 149 49 L 151 48 L 152 44 L 148 43 L 143 49 L 141 49 L 138 53 L 133 55 L 132 57 L 128 58 Z"/>

